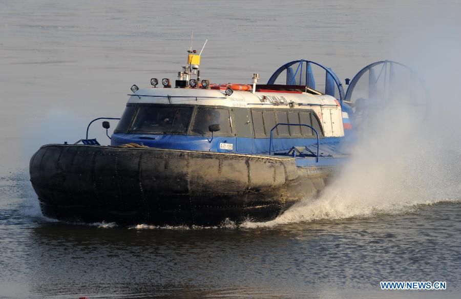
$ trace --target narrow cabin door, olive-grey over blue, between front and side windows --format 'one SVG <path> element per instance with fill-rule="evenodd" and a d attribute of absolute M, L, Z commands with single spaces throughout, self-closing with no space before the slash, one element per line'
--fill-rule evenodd
<path fill-rule="evenodd" d="M 253 150 L 253 123 L 250 110 L 247 108 L 233 108 L 234 132 L 237 133 L 236 152 L 252 153 Z"/>

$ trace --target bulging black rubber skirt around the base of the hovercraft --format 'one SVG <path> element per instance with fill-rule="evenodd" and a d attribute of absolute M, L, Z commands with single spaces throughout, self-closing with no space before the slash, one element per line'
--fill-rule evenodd
<path fill-rule="evenodd" d="M 45 216 L 126 225 L 272 220 L 332 171 L 289 157 L 95 145 L 44 145 L 30 161 Z"/>

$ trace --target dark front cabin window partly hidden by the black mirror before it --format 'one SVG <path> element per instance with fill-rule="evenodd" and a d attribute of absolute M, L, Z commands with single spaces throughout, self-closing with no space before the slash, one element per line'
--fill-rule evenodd
<path fill-rule="evenodd" d="M 211 124 L 219 124 L 221 130 L 217 133 L 231 134 L 231 118 L 229 111 L 226 109 L 213 108 L 198 108 L 195 115 L 194 126 L 192 132 L 200 135 L 209 133 L 208 126 Z"/>

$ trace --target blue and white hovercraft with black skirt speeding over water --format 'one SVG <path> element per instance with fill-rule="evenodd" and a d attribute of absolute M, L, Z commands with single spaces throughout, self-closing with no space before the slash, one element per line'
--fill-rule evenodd
<path fill-rule="evenodd" d="M 76 144 L 40 147 L 30 177 L 45 216 L 154 225 L 268 221 L 316 196 L 347 159 L 353 104 L 330 69 L 301 59 L 267 84 L 258 84 L 258 74 L 252 84 L 213 84 L 200 77 L 196 51 L 187 62 L 175 88 L 168 78 L 162 88 L 156 78 L 151 88 L 131 88 L 110 145 L 89 139 L 87 129 Z M 388 69 L 393 62 L 378 63 Z M 324 92 L 312 67 L 324 72 Z M 364 70 L 351 85 L 374 74 Z"/>

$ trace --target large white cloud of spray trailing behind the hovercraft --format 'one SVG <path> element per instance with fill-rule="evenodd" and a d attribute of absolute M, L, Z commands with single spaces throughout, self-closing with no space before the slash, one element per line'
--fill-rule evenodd
<path fill-rule="evenodd" d="M 305 199 L 274 221 L 243 226 L 373 217 L 461 201 L 461 45 L 448 30 L 459 25 L 430 28 L 407 36 L 395 54 L 423 77 L 428 102 L 414 98 L 421 92 L 414 82 L 407 88 L 417 91 L 394 92 L 370 115 L 350 161 L 318 199 Z"/>

